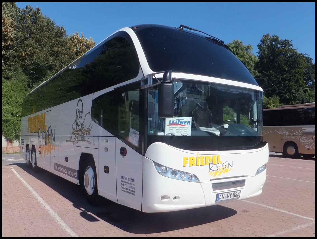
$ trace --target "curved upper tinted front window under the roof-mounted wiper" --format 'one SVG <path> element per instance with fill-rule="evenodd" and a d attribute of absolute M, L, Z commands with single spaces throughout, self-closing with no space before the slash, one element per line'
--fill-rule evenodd
<path fill-rule="evenodd" d="M 204 36 L 164 26 L 135 30 L 153 71 L 172 70 L 258 85 L 225 46 Z"/>

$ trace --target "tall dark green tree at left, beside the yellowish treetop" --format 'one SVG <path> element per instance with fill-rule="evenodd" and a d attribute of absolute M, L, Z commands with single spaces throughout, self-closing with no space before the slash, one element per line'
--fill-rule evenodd
<path fill-rule="evenodd" d="M 29 88 L 49 79 L 77 58 L 64 28 L 31 6 L 18 15 L 14 45 L 3 58 L 7 66 L 4 77 L 10 79 L 10 73 L 18 67 L 29 79 Z"/>

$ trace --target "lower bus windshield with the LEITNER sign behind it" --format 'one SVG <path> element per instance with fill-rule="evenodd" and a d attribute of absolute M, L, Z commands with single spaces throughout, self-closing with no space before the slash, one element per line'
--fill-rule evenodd
<path fill-rule="evenodd" d="M 199 150 L 260 147 L 261 91 L 185 79 L 175 80 L 174 90 L 174 117 L 167 119 L 156 113 L 157 88 L 148 91 L 148 145 L 164 142 Z"/>

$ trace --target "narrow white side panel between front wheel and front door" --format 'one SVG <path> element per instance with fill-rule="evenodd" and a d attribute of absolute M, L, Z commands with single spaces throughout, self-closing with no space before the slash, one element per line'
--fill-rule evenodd
<path fill-rule="evenodd" d="M 99 194 L 113 202 L 117 200 L 116 187 L 116 138 L 99 137 L 98 143 Z"/>

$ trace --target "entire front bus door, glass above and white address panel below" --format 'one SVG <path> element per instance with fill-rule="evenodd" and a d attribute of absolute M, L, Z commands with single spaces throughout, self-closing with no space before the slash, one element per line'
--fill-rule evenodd
<path fill-rule="evenodd" d="M 141 210 L 142 156 L 139 85 L 122 90 L 118 100 L 118 137 L 116 139 L 116 169 L 118 203 Z"/>

